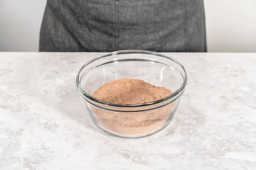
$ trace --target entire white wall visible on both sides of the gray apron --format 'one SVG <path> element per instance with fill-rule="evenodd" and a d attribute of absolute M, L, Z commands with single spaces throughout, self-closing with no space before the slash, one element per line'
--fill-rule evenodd
<path fill-rule="evenodd" d="M 256 0 L 204 0 L 209 52 L 256 52 Z M 0 0 L 0 51 L 38 51 L 46 0 Z"/>

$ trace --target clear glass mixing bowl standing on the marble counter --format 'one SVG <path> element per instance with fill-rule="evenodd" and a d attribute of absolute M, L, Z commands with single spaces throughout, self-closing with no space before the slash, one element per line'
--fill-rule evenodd
<path fill-rule="evenodd" d="M 135 105 L 119 105 L 91 95 L 115 79 L 142 79 L 163 86 L 172 95 Z M 115 136 L 137 138 L 154 134 L 171 121 L 185 90 L 187 74 L 177 60 L 152 51 L 125 50 L 105 54 L 87 62 L 78 72 L 76 84 L 93 122 Z"/>

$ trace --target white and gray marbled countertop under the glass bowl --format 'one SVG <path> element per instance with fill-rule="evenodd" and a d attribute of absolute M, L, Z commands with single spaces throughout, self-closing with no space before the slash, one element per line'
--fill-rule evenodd
<path fill-rule="evenodd" d="M 99 53 L 0 53 L 0 170 L 255 170 L 256 54 L 169 54 L 189 76 L 171 124 L 99 130 L 75 78 Z"/>

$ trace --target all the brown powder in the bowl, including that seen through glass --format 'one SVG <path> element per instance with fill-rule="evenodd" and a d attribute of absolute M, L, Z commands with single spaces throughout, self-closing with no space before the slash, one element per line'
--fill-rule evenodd
<path fill-rule="evenodd" d="M 107 82 L 93 92 L 92 96 L 116 104 L 141 104 L 153 102 L 171 95 L 164 87 L 157 87 L 140 79 L 116 79 Z M 114 113 L 92 108 L 99 123 L 108 130 L 122 134 L 140 134 L 157 130 L 163 126 L 172 111 L 173 104 L 151 111 Z M 152 106 L 148 106 L 151 108 Z M 143 108 L 147 109 L 147 108 Z"/>

